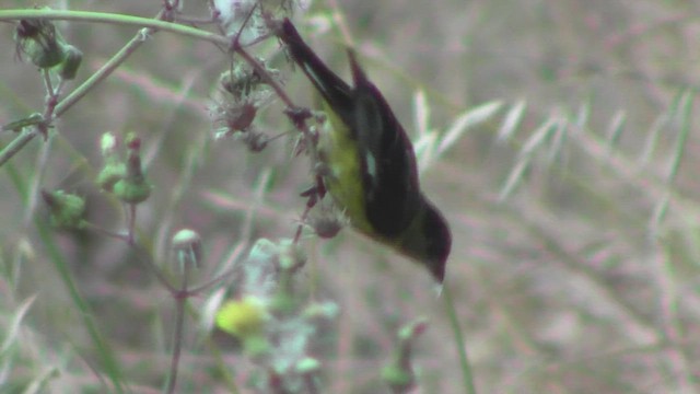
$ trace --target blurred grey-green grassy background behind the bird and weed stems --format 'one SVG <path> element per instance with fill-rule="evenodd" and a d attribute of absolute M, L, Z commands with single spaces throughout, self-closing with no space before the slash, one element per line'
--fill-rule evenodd
<path fill-rule="evenodd" d="M 48 4 L 149 18 L 161 2 Z M 316 1 L 296 21 L 319 55 L 347 77 L 341 35 L 335 23 L 323 28 L 332 7 Z M 422 174 L 425 194 L 452 225 L 445 286 L 479 392 L 698 392 L 700 140 L 693 99 L 700 3 L 354 0 L 338 7 L 368 73 L 416 138 L 427 107 L 429 129 L 443 136 L 469 108 L 503 103 Z M 208 15 L 203 1 L 189 1 L 185 11 Z M 137 31 L 58 25 L 84 53 L 69 90 Z M 0 124 L 40 111 L 44 101 L 34 66 L 14 56 L 13 28 L 0 23 Z M 311 105 L 308 82 L 290 72 L 277 47 L 272 39 L 254 51 L 271 56 L 288 93 Z M 207 108 L 228 67 L 225 54 L 211 44 L 156 33 L 59 119 L 50 149 L 35 139 L 0 170 L 0 336 L 10 337 L 20 305 L 35 297 L 21 324 L 21 358 L 11 368 L 3 363 L 11 379 L 31 381 L 57 368 L 61 378 L 46 392 L 95 383 L 89 368 L 94 350 L 37 230 L 47 216 L 36 190 L 81 194 L 92 222 L 122 230 L 121 208 L 93 184 L 103 132 L 132 130 L 143 139 L 155 186 L 139 208 L 138 228 L 159 262 L 167 260 L 167 240 L 182 227 L 202 235 L 211 262 L 202 278 L 231 250 L 261 236 L 293 235 L 304 209 L 299 193 L 311 177 L 306 160 L 291 158 L 292 139 L 257 154 L 231 139 L 211 141 Z M 427 104 L 416 104 L 418 91 Z M 271 136 L 290 131 L 281 109 L 272 103 L 258 127 Z M 520 120 L 510 129 L 503 126 L 509 114 Z M 12 138 L 4 132 L 0 142 Z M 90 231 L 50 237 L 132 389 L 158 392 L 168 360 L 168 294 L 113 239 Z M 387 392 L 378 368 L 396 328 L 418 316 L 430 321 L 413 358 L 418 392 L 463 391 L 459 344 L 420 267 L 350 229 L 331 241 L 310 237 L 305 247 L 303 275 L 314 298 L 341 308 L 314 349 L 328 393 Z M 182 390 L 224 392 L 192 325 Z M 246 361 L 223 350 L 245 375 Z"/>

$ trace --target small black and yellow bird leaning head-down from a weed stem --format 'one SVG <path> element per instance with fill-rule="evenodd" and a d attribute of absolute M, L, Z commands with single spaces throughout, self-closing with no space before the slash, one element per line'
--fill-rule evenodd
<path fill-rule="evenodd" d="M 416 154 L 380 90 L 348 50 L 353 85 L 332 72 L 285 19 L 278 35 L 324 100 L 318 136 L 323 183 L 353 228 L 424 265 L 442 282 L 452 235 L 423 196 Z"/>

